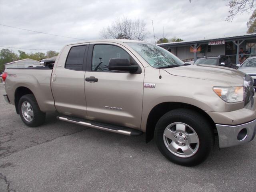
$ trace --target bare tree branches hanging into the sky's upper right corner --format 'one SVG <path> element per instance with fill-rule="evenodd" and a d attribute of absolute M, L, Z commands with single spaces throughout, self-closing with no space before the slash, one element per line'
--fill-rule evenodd
<path fill-rule="evenodd" d="M 226 21 L 231 22 L 237 14 L 242 14 L 255 8 L 256 0 L 230 0 L 227 6 L 229 6 L 229 16 Z"/>

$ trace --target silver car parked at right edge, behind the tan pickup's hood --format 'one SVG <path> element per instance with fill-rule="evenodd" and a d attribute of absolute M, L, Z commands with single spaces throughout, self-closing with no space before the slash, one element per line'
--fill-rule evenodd
<path fill-rule="evenodd" d="M 239 66 L 238 70 L 250 75 L 254 80 L 254 89 L 256 91 L 256 56 L 249 57 L 241 65 Z"/>

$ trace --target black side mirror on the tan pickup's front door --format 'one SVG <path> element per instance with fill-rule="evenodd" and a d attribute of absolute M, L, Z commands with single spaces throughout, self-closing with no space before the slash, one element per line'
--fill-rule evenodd
<path fill-rule="evenodd" d="M 111 58 L 109 60 L 108 69 L 111 71 L 129 71 L 136 72 L 138 70 L 137 65 L 131 65 L 126 58 Z"/>

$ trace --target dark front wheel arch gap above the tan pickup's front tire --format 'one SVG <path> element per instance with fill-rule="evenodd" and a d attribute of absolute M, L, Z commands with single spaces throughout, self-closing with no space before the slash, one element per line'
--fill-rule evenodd
<path fill-rule="evenodd" d="M 212 118 L 204 110 L 198 108 L 197 106 L 181 102 L 163 102 L 154 106 L 148 115 L 146 123 L 146 143 L 150 142 L 150 140 L 154 138 L 155 126 L 160 117 L 166 114 L 168 111 L 178 108 L 186 108 L 198 112 L 208 120 L 212 129 L 216 128 Z"/>

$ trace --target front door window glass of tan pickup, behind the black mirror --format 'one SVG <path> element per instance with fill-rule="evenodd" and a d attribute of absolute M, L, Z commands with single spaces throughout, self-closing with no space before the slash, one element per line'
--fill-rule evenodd
<path fill-rule="evenodd" d="M 92 53 L 92 71 L 107 72 L 111 58 L 126 58 L 131 64 L 134 60 L 122 48 L 114 45 L 94 45 Z"/>

